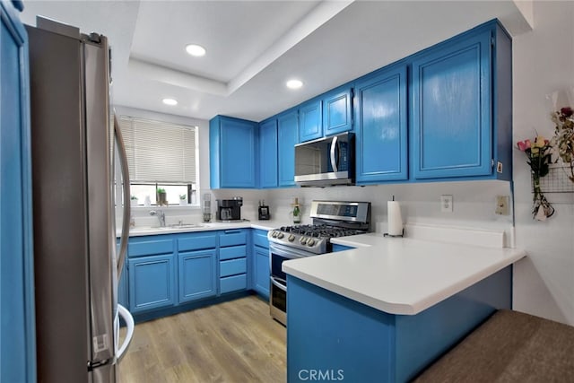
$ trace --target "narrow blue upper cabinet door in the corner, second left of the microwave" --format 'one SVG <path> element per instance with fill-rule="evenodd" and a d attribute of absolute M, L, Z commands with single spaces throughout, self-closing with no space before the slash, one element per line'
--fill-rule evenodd
<path fill-rule="evenodd" d="M 259 187 L 277 187 L 277 119 L 259 124 Z"/>

